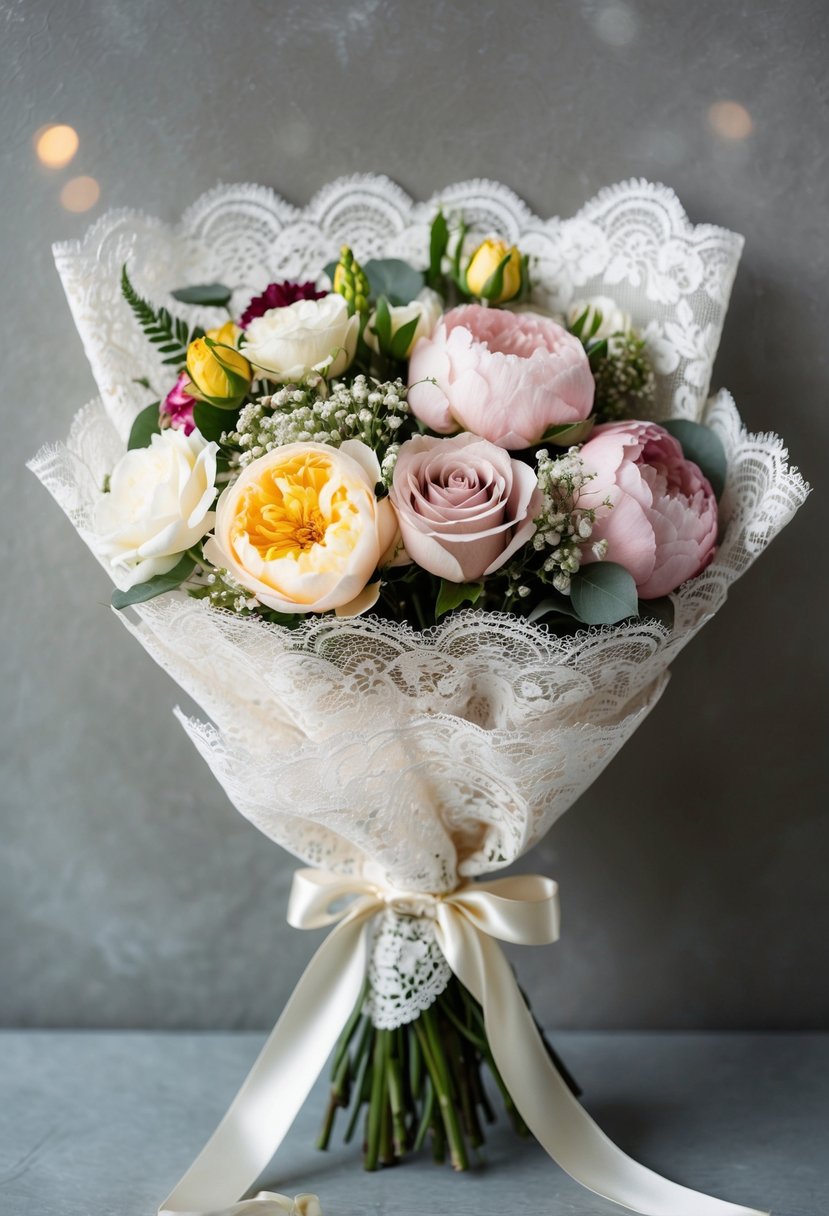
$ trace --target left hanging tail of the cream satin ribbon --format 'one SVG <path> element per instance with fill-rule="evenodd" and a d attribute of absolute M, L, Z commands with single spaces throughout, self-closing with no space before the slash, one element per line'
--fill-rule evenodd
<path fill-rule="evenodd" d="M 360 997 L 368 914 L 361 910 L 346 917 L 314 955 L 242 1088 L 159 1216 L 303 1210 L 301 1204 L 286 1209 L 293 1201 L 267 1192 L 238 1200 L 284 1139 Z"/>

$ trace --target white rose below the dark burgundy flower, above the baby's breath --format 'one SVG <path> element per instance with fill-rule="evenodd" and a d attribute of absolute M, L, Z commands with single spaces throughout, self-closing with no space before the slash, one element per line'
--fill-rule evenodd
<path fill-rule="evenodd" d="M 246 359 L 271 379 L 301 381 L 310 371 L 340 376 L 357 349 L 360 317 L 332 292 L 255 317 L 246 330 Z"/>

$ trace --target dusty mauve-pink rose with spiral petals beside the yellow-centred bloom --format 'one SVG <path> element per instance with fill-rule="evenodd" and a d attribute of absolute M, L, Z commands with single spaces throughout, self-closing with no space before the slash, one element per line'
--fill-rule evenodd
<path fill-rule="evenodd" d="M 543 496 L 529 465 L 478 435 L 414 435 L 389 494 L 406 552 L 449 582 L 492 574 L 535 531 Z"/>

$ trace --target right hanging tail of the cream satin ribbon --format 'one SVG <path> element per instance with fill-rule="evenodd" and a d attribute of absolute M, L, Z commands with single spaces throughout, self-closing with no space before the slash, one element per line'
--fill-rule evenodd
<path fill-rule="evenodd" d="M 767 1216 L 670 1182 L 622 1153 L 553 1066 L 500 945 L 445 905 L 438 925 L 449 966 L 483 1006 L 492 1057 L 515 1105 L 571 1178 L 639 1216 Z"/>

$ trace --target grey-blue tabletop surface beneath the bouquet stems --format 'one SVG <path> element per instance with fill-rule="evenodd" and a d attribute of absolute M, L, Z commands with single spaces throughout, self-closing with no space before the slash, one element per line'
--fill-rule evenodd
<path fill-rule="evenodd" d="M 829 1211 L 829 1035 L 560 1032 L 583 1100 L 666 1176 L 778 1216 Z M 213 1131 L 258 1034 L 0 1034 L 0 1214 L 152 1216 Z M 423 1158 L 367 1175 L 312 1147 L 311 1094 L 264 1181 L 315 1190 L 325 1216 L 610 1216 L 502 1124 L 453 1175 Z"/>

